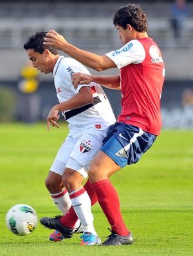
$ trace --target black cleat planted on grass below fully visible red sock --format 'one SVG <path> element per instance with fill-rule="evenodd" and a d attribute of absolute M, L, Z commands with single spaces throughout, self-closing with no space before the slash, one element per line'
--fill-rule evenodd
<path fill-rule="evenodd" d="M 118 235 L 116 231 L 111 230 L 111 235 L 109 235 L 104 241 L 101 246 L 118 246 L 118 245 L 126 245 L 126 244 L 133 244 L 134 239 L 132 233 L 129 235 Z"/>

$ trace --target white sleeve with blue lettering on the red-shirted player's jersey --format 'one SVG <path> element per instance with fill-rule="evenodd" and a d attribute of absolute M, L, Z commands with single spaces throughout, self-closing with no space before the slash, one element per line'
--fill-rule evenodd
<path fill-rule="evenodd" d="M 122 48 L 106 54 L 117 66 L 118 69 L 131 63 L 142 63 L 145 59 L 145 49 L 138 40 L 131 40 Z"/>

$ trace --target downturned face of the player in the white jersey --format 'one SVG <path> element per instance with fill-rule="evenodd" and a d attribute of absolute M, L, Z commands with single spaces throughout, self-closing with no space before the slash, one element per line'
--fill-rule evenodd
<path fill-rule="evenodd" d="M 50 68 L 50 58 L 46 50 L 44 50 L 42 54 L 39 54 L 39 52 L 35 52 L 33 49 L 28 49 L 27 54 L 30 61 L 32 61 L 33 68 L 37 68 L 37 70 L 44 74 L 48 74 L 53 71 Z"/>

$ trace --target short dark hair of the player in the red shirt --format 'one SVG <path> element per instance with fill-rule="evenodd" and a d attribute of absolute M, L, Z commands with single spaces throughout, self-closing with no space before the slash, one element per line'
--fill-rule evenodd
<path fill-rule="evenodd" d="M 126 29 L 127 24 L 138 32 L 147 32 L 147 17 L 137 5 L 122 6 L 113 16 L 113 24 Z"/>

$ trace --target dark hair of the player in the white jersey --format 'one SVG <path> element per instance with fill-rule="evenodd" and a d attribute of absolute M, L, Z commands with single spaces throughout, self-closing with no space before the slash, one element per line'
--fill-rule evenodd
<path fill-rule="evenodd" d="M 42 54 L 44 50 L 48 49 L 51 52 L 51 54 L 59 54 L 55 47 L 43 44 L 44 37 L 46 37 L 46 32 L 37 32 L 35 35 L 32 35 L 24 44 L 24 49 L 33 49 L 34 52 L 39 52 L 39 54 Z"/>

